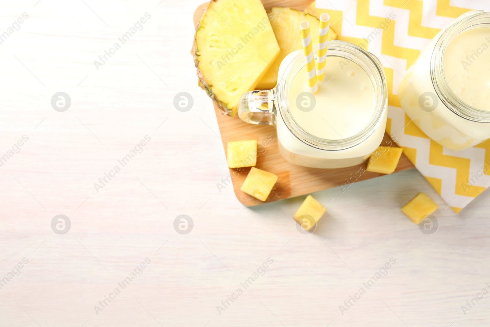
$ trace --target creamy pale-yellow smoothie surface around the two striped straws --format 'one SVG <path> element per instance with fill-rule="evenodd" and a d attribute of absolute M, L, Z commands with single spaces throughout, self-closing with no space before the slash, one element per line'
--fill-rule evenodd
<path fill-rule="evenodd" d="M 314 95 L 315 106 L 303 93 L 308 91 L 303 67 L 291 82 L 289 108 L 308 133 L 328 140 L 346 139 L 359 133 L 374 114 L 373 87 L 366 71 L 351 60 L 330 56 L 325 66 L 325 78 Z"/>

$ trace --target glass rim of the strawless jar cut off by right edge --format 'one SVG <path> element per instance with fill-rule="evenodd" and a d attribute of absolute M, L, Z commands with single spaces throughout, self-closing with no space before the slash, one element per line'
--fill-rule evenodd
<path fill-rule="evenodd" d="M 480 25 L 480 26 L 479 26 Z M 478 109 L 461 100 L 448 86 L 444 72 L 444 53 L 449 43 L 459 34 L 481 25 L 490 27 L 490 12 L 479 11 L 453 23 L 441 34 L 432 52 L 430 75 L 437 96 L 456 115 L 477 123 L 490 123 L 490 111 Z"/>

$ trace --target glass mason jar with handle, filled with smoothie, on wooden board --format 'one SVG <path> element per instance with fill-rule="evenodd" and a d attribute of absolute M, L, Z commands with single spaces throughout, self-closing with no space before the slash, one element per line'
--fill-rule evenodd
<path fill-rule="evenodd" d="M 313 46 L 316 57 L 317 46 Z M 344 41 L 328 43 L 326 73 L 319 91 L 309 92 L 302 50 L 281 62 L 272 90 L 250 91 L 239 117 L 275 126 L 279 151 L 289 162 L 313 168 L 363 163 L 383 140 L 387 86 L 378 58 Z"/>

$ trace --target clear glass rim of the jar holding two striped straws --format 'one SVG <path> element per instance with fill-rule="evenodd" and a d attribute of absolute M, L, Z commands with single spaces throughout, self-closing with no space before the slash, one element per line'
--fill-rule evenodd
<path fill-rule="evenodd" d="M 313 46 L 314 57 L 317 57 L 318 45 Z M 304 54 L 302 50 L 298 50 L 298 54 L 294 56 L 291 62 L 284 70 L 284 77 L 280 78 L 277 83 L 277 101 L 279 101 L 279 114 L 282 117 L 284 124 L 289 130 L 303 143 L 306 143 L 314 148 L 327 151 L 339 151 L 355 147 L 371 136 L 377 127 L 381 124 L 382 118 L 387 110 L 388 90 L 386 78 L 384 75 L 383 66 L 376 56 L 372 53 L 346 41 L 332 40 L 328 42 L 327 56 L 338 56 L 347 58 L 359 66 L 361 66 L 369 75 L 373 92 L 375 93 L 374 114 L 368 124 L 358 133 L 338 140 L 319 138 L 305 131 L 294 120 L 294 117 L 289 109 L 289 83 L 296 73 L 305 66 Z"/>

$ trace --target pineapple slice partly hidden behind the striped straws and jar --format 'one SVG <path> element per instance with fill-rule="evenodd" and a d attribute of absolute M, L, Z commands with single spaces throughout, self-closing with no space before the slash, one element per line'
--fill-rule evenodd
<path fill-rule="evenodd" d="M 318 33 L 320 21 L 315 16 L 305 14 L 292 8 L 274 7 L 270 9 L 270 25 L 281 49 L 281 53 L 271 64 L 266 75 L 255 87 L 257 90 L 270 90 L 277 84 L 277 72 L 281 61 L 294 50 L 303 49 L 299 24 L 303 21 L 310 23 L 311 37 L 313 44 L 318 43 Z M 337 34 L 332 28 L 328 31 L 328 41 L 335 40 Z"/>

